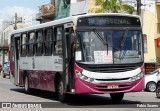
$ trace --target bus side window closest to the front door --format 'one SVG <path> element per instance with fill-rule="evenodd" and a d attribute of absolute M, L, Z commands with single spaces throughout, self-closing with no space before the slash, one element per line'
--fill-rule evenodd
<path fill-rule="evenodd" d="M 55 54 L 62 54 L 62 36 L 63 36 L 63 28 L 57 27 L 55 29 L 55 39 L 54 39 Z"/>

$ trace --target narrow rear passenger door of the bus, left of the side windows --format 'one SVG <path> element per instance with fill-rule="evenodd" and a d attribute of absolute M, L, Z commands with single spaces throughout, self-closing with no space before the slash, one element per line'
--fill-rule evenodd
<path fill-rule="evenodd" d="M 15 85 L 19 85 L 19 58 L 20 58 L 20 35 L 15 37 L 15 64 L 14 64 L 14 83 Z"/>

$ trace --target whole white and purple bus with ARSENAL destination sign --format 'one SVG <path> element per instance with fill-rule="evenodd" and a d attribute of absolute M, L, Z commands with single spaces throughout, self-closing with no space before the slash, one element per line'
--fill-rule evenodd
<path fill-rule="evenodd" d="M 11 35 L 10 78 L 25 92 L 110 94 L 144 89 L 141 21 L 128 14 L 86 14 L 23 29 Z"/>

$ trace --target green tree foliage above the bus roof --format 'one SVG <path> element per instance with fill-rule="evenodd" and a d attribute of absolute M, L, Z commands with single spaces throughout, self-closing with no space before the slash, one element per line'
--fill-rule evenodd
<path fill-rule="evenodd" d="M 133 13 L 134 7 L 128 4 L 123 4 L 121 0 L 95 0 L 95 5 L 98 8 L 92 8 L 90 12 L 95 13 L 118 13 L 126 11 L 130 14 Z"/>

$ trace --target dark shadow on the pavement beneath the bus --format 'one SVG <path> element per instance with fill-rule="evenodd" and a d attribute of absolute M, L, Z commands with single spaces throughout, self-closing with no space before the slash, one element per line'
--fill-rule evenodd
<path fill-rule="evenodd" d="M 11 91 L 15 91 L 18 93 L 24 93 L 23 88 L 14 88 L 10 89 Z M 41 91 L 41 90 L 33 90 L 30 94 L 32 96 L 37 96 L 45 99 L 50 99 L 57 101 L 57 96 L 53 92 Z M 125 95 L 124 95 L 125 97 Z M 136 107 L 137 104 L 141 104 L 140 101 L 132 101 L 132 100 L 122 100 L 122 101 L 112 101 L 110 97 L 106 97 L 105 95 L 93 95 L 93 94 L 84 94 L 84 95 L 67 95 L 67 100 L 64 103 L 58 102 L 57 105 L 63 107 L 102 107 L 102 108 L 124 108 L 124 107 Z"/>

